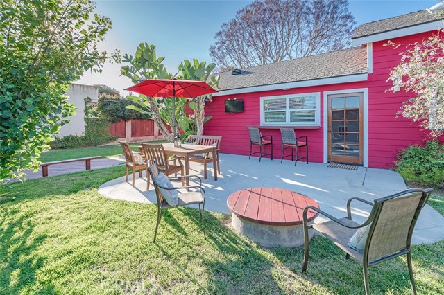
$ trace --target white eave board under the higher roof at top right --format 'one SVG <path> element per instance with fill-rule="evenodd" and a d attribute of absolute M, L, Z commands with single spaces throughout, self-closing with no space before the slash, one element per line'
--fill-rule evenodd
<path fill-rule="evenodd" d="M 367 44 L 372 42 L 378 42 L 398 37 L 404 37 L 408 35 L 414 35 L 418 33 L 425 33 L 431 30 L 438 30 L 443 28 L 443 21 L 429 21 L 425 24 L 418 24 L 414 26 L 407 26 L 404 28 L 398 28 L 395 30 L 387 30 L 382 33 L 375 33 L 370 35 L 364 35 L 360 37 L 352 37 L 352 46 L 359 46 L 361 44 Z"/>

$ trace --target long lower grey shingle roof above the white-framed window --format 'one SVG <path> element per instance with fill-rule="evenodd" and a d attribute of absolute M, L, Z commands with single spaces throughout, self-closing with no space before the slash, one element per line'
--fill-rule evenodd
<path fill-rule="evenodd" d="M 241 75 L 220 73 L 220 90 L 297 82 L 367 73 L 366 48 L 349 48 L 243 69 Z"/>

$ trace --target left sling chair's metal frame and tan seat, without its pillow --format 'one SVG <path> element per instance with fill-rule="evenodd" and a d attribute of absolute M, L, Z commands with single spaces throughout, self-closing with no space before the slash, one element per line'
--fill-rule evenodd
<path fill-rule="evenodd" d="M 157 236 L 157 229 L 160 224 L 160 220 L 162 219 L 162 210 L 169 209 L 169 208 L 175 208 L 175 207 L 182 207 L 182 206 L 189 206 L 192 204 L 198 204 L 199 205 L 199 212 L 200 212 L 200 220 L 202 222 L 202 231 L 203 235 L 206 238 L 205 235 L 205 226 L 203 221 L 203 213 L 205 211 L 205 190 L 202 187 L 202 179 L 196 175 L 184 175 L 185 177 L 194 177 L 198 179 L 199 185 L 198 186 L 184 186 L 182 188 L 196 188 L 198 191 L 191 191 L 187 193 L 179 193 L 178 194 L 178 205 L 177 206 L 170 206 L 166 199 L 164 198 L 164 195 L 162 194 L 162 190 L 180 190 L 182 188 L 172 188 L 167 186 L 162 186 L 157 181 L 157 176 L 160 175 L 160 170 L 157 166 L 156 161 L 154 160 L 148 160 L 148 171 L 151 175 L 151 179 L 153 179 L 153 185 L 155 188 L 155 195 L 157 199 L 157 222 L 155 224 L 155 232 L 154 232 L 154 240 Z M 202 209 L 200 209 L 200 204 L 202 204 Z"/>

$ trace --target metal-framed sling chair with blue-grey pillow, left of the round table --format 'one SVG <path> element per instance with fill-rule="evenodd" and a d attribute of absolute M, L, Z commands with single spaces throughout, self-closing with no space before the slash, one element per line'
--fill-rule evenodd
<path fill-rule="evenodd" d="M 165 177 L 165 175 L 163 175 L 162 172 L 160 172 L 159 168 L 157 167 L 156 161 L 148 160 L 148 171 L 151 175 L 151 179 L 153 179 L 155 196 L 157 199 L 157 222 L 155 224 L 153 243 L 155 243 L 155 238 L 157 236 L 157 229 L 159 227 L 160 220 L 162 219 L 162 210 L 175 207 L 189 206 L 192 204 L 199 205 L 200 220 L 202 222 L 202 231 L 204 237 L 206 238 L 205 226 L 203 221 L 203 213 L 205 212 L 205 190 L 202 187 L 202 179 L 200 179 L 200 177 L 196 175 L 184 175 L 185 177 L 194 177 L 198 179 L 199 181 L 198 186 L 183 186 L 181 188 L 175 188 L 173 187 L 171 182 L 165 179 L 167 177 Z M 181 190 L 182 188 L 197 189 L 197 191 L 179 193 L 178 190 Z M 171 200 L 168 202 L 167 199 L 174 198 L 173 195 L 175 194 L 176 194 L 176 204 L 170 204 L 169 202 L 171 202 Z M 200 209 L 200 204 L 202 204 L 202 209 Z"/>

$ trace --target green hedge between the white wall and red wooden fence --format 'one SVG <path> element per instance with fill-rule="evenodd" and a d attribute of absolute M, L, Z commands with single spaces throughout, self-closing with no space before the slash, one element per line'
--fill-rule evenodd
<path fill-rule="evenodd" d="M 53 149 L 93 147 L 110 143 L 119 136 L 111 136 L 110 122 L 103 118 L 85 118 L 85 134 L 81 136 L 68 135 L 56 138 L 50 143 Z"/>

